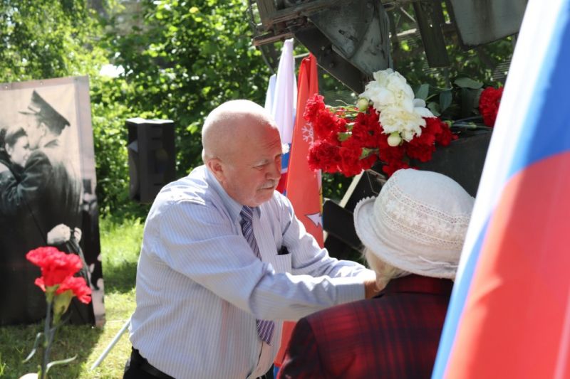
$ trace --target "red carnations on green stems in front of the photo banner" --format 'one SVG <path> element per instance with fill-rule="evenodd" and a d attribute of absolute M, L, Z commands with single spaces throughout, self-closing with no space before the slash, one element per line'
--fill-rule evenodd
<path fill-rule="evenodd" d="M 73 356 L 62 361 L 49 362 L 53 338 L 62 324 L 61 316 L 67 311 L 73 297 L 88 304 L 91 301 L 91 289 L 83 277 L 75 276 L 83 267 L 78 255 L 66 254 L 56 247 L 38 247 L 28 252 L 26 259 L 41 268 L 41 277 L 36 279 L 35 284 L 46 292 L 48 305 L 43 333 L 38 333 L 33 349 L 26 358 L 26 361 L 29 361 L 33 357 L 43 336 L 43 359 L 38 373 L 38 377 L 43 379 L 53 365 L 69 363 L 76 358 Z"/>

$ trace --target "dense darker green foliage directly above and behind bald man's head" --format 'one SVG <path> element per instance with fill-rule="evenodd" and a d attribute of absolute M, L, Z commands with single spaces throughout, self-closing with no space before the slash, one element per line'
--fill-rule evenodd
<path fill-rule="evenodd" d="M 133 87 L 119 101 L 136 115 L 175 122 L 177 169 L 184 174 L 200 163 L 199 132 L 209 111 L 237 98 L 262 104 L 269 69 L 252 46 L 244 1 L 141 4 L 140 26 L 108 38 Z"/>

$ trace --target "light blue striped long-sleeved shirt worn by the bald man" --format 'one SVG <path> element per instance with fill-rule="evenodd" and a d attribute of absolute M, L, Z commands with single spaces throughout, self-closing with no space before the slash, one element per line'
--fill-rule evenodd
<path fill-rule="evenodd" d="M 200 166 L 162 188 L 148 214 L 130 341 L 177 379 L 263 375 L 281 321 L 363 299 L 363 279 L 374 276 L 329 257 L 277 192 L 254 212 L 261 261 L 242 235 L 240 210 Z M 289 254 L 277 255 L 282 246 Z M 256 319 L 276 321 L 271 346 Z"/>

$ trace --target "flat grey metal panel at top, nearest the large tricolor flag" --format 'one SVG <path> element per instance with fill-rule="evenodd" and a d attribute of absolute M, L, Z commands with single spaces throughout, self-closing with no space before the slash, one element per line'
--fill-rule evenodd
<path fill-rule="evenodd" d="M 462 43 L 477 46 L 518 33 L 527 0 L 450 0 L 450 4 Z"/>

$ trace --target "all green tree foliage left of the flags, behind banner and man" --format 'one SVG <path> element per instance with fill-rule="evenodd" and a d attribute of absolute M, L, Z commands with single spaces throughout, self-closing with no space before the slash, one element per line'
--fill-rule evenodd
<path fill-rule="evenodd" d="M 128 199 L 125 119 L 175 122 L 181 176 L 200 162 L 208 112 L 236 98 L 262 103 L 269 73 L 252 46 L 244 1 L 135 3 L 123 12 L 128 1 L 105 3 L 100 15 L 81 0 L 0 0 L 1 82 L 90 77 L 103 214 L 147 209 Z M 102 77 L 109 62 L 124 75 Z"/>

